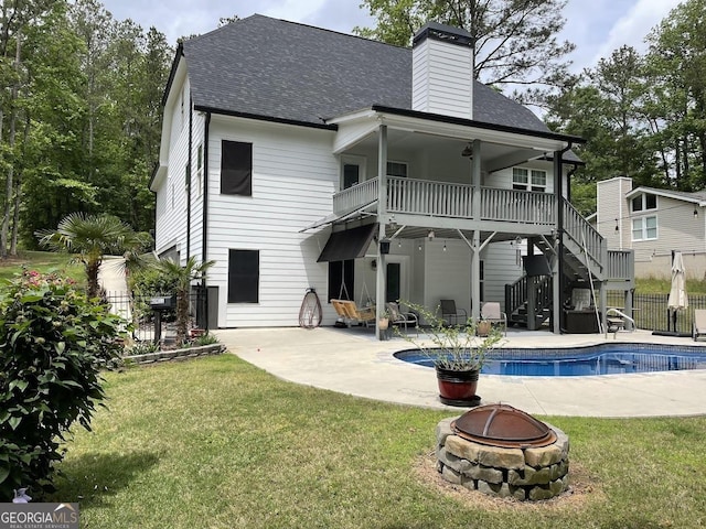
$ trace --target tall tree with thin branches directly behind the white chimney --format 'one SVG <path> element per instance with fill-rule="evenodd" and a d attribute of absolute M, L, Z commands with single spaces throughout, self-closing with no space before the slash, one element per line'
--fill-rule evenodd
<path fill-rule="evenodd" d="M 407 46 L 427 21 L 463 28 L 473 42 L 473 75 L 494 86 L 528 86 L 527 97 L 560 86 L 574 44 L 557 41 L 567 0 L 363 0 L 377 25 L 355 28 L 366 37 Z M 539 88 L 537 88 L 539 87 Z M 515 93 L 520 97 L 518 93 Z"/>

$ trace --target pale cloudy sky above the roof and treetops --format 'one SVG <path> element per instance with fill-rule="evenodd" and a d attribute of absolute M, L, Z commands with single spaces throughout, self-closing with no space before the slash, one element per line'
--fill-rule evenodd
<path fill-rule="evenodd" d="M 180 36 L 206 33 L 223 17 L 253 13 L 301 22 L 342 33 L 373 26 L 361 0 L 104 0 L 117 20 L 132 19 L 145 30 L 156 26 L 175 45 Z M 643 52 L 644 37 L 680 0 L 568 0 L 561 40 L 576 44 L 573 71 L 592 67 L 613 50 L 629 44 Z"/>

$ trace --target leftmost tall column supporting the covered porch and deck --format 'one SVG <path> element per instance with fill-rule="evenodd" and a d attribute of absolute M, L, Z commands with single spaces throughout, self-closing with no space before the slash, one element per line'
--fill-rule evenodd
<path fill-rule="evenodd" d="M 377 273 L 375 280 L 375 336 L 384 339 L 379 321 L 385 312 L 385 294 L 387 292 L 387 256 L 381 251 L 379 241 L 385 238 L 385 214 L 387 213 L 387 126 L 381 125 L 377 147 Z"/>

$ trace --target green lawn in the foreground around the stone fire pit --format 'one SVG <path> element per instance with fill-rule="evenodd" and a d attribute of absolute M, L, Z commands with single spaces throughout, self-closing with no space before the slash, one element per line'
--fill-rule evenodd
<path fill-rule="evenodd" d="M 67 443 L 52 498 L 79 501 L 83 527 L 706 525 L 706 418 L 544 418 L 588 487 L 520 505 L 419 473 L 449 412 L 285 382 L 232 355 L 111 373 L 106 388 L 109 411 Z"/>

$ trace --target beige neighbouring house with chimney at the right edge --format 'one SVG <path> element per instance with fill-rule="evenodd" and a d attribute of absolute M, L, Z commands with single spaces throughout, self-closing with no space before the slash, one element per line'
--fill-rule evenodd
<path fill-rule="evenodd" d="M 688 277 L 706 274 L 706 191 L 685 193 L 639 186 L 619 176 L 598 183 L 595 225 L 609 248 L 631 249 L 635 276 L 668 278 L 672 251 Z"/>

